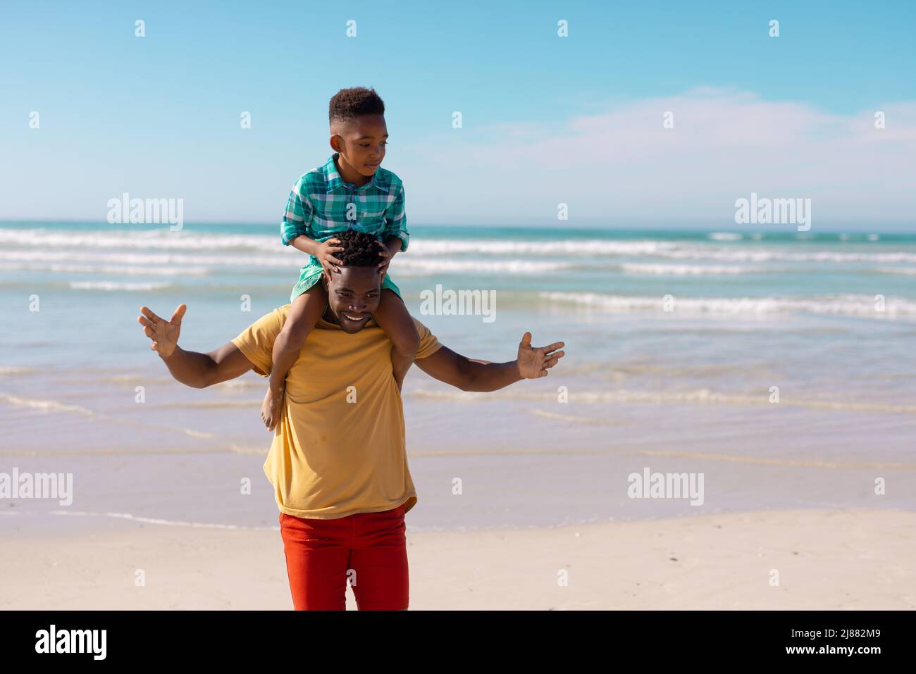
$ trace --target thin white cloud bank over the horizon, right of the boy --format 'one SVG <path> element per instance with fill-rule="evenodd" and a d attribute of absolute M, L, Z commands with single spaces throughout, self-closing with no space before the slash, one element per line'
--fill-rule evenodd
<path fill-rule="evenodd" d="M 673 129 L 662 126 L 669 111 Z M 549 222 L 563 201 L 571 223 L 721 223 L 751 191 L 810 198 L 815 223 L 916 213 L 916 103 L 841 115 L 703 87 L 561 125 L 465 124 L 452 134 L 439 151 L 435 141 L 413 147 L 415 218 Z"/>

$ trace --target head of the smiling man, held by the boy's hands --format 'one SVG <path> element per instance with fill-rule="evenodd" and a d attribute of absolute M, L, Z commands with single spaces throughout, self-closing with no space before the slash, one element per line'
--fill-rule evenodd
<path fill-rule="evenodd" d="M 382 294 L 382 275 L 378 263 L 382 261 L 381 247 L 375 236 L 347 230 L 334 234 L 344 248 L 334 253 L 341 261 L 340 274 L 323 274 L 328 290 L 328 309 L 340 323 L 344 332 L 361 331 L 378 309 Z"/>

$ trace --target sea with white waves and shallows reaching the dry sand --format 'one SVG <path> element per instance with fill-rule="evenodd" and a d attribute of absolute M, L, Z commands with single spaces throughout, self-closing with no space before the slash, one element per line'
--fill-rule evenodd
<path fill-rule="evenodd" d="M 187 304 L 180 345 L 212 351 L 289 301 L 303 254 L 273 224 L 172 229 L 0 222 L 0 477 L 72 478 L 67 505 L 0 497 L 0 534 L 278 526 L 265 380 L 182 386 L 137 316 Z M 389 273 L 440 342 L 501 363 L 531 332 L 565 355 L 492 393 L 409 373 L 409 530 L 916 509 L 916 236 L 410 234 Z M 424 301 L 462 290 L 481 302 Z M 676 477 L 652 494 L 655 475 Z"/>

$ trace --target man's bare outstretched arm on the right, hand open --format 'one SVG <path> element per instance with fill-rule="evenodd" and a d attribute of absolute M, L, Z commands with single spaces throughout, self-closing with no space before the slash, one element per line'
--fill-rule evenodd
<path fill-rule="evenodd" d="M 518 358 L 508 363 L 467 358 L 446 346 L 415 363 L 427 375 L 463 391 L 496 391 L 521 379 L 547 376 L 548 370 L 565 355 L 558 351 L 563 342 L 550 346 L 531 346 L 531 333 L 526 332 L 518 344 Z"/>

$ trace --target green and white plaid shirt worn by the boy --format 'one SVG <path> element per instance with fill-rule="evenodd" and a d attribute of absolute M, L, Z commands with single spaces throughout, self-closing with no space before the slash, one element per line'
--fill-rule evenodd
<path fill-rule="evenodd" d="M 386 168 L 378 167 L 372 180 L 357 188 L 341 178 L 334 165 L 337 156 L 337 152 L 333 153 L 324 166 L 302 174 L 289 191 L 280 224 L 283 244 L 289 245 L 300 234 L 321 242 L 355 229 L 372 234 L 383 243 L 388 236 L 397 236 L 401 251 L 407 250 L 410 235 L 401 180 Z M 314 255 L 311 262 L 320 264 Z"/>

